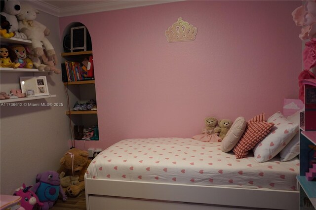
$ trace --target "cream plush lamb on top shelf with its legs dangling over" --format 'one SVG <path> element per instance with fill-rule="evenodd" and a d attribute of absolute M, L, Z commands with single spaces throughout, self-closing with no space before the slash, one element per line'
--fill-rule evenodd
<path fill-rule="evenodd" d="M 57 63 L 57 56 L 54 47 L 50 41 L 45 37 L 50 34 L 50 30 L 43 24 L 36 21 L 37 13 L 39 11 L 33 8 L 30 4 L 21 2 L 21 12 L 17 15 L 19 20 L 19 30 L 27 35 L 28 39 L 32 41 L 34 54 L 40 57 L 44 54 L 42 44 L 46 49 L 47 56 L 52 58 Z"/>

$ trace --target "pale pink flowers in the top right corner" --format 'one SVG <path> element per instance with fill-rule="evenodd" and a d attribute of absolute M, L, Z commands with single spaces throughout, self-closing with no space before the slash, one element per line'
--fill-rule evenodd
<path fill-rule="evenodd" d="M 295 24 L 303 27 L 299 35 L 302 40 L 316 35 L 316 0 L 307 0 L 292 12 L 292 16 Z"/>

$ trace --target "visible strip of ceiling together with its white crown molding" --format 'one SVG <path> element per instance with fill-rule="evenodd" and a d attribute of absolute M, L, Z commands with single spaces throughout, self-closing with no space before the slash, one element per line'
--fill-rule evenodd
<path fill-rule="evenodd" d="M 40 11 L 64 17 L 174 1 L 179 0 L 30 0 L 28 2 Z"/>

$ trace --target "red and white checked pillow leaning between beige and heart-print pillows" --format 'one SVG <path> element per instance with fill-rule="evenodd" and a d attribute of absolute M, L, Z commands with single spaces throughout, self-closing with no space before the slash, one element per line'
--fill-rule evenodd
<path fill-rule="evenodd" d="M 265 122 L 264 113 L 250 119 L 246 124 L 245 132 L 233 149 L 236 158 L 245 157 L 249 150 L 269 134 L 273 126 L 274 123 Z"/>

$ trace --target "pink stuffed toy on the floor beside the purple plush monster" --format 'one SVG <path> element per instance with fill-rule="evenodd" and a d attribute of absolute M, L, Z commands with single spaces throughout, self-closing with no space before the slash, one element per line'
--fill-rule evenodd
<path fill-rule="evenodd" d="M 34 207 L 43 206 L 43 203 L 40 202 L 38 196 L 30 190 L 31 186 L 26 187 L 25 184 L 22 184 L 22 187 L 15 190 L 13 195 L 21 197 L 21 207 L 25 210 L 33 210 Z"/>

